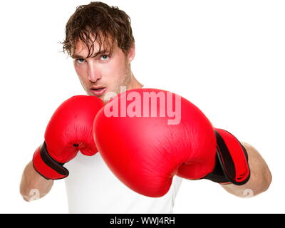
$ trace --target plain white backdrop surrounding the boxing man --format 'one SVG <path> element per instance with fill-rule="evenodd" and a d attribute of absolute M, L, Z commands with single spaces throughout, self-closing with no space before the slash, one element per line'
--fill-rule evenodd
<path fill-rule="evenodd" d="M 58 41 L 76 6 L 89 2 L 1 3 L 1 213 L 68 212 L 63 180 L 29 203 L 19 182 L 53 111 L 84 94 Z M 284 213 L 284 1 L 105 2 L 132 19 L 136 78 L 185 96 L 215 126 L 254 145 L 271 169 L 269 190 L 251 199 L 184 181 L 175 212 Z"/>

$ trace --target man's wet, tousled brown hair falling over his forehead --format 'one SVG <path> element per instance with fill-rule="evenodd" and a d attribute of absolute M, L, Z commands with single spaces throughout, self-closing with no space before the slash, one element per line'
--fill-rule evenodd
<path fill-rule="evenodd" d="M 75 13 L 66 24 L 66 38 L 62 42 L 63 52 L 72 56 L 78 41 L 88 47 L 88 57 L 94 51 L 94 41 L 113 50 L 113 44 L 124 53 L 128 53 L 135 43 L 130 26 L 130 17 L 115 6 L 108 6 L 100 1 L 90 2 L 88 5 L 78 6 Z"/>

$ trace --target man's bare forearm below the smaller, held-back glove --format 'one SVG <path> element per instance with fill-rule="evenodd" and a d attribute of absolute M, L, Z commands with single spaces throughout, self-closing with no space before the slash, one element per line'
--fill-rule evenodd
<path fill-rule="evenodd" d="M 28 162 L 22 175 L 20 184 L 21 196 L 26 201 L 40 199 L 51 190 L 53 180 L 46 180 L 33 168 L 33 162 Z"/>

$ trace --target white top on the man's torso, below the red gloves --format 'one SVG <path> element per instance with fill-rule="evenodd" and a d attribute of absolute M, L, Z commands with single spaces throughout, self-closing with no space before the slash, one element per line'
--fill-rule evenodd
<path fill-rule="evenodd" d="M 170 190 L 158 198 L 145 197 L 126 187 L 105 165 L 100 153 L 81 152 L 66 163 L 70 213 L 172 213 L 182 178 L 175 176 Z"/>

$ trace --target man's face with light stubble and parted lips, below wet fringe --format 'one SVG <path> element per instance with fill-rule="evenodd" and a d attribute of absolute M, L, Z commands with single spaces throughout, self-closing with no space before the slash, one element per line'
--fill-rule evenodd
<path fill-rule="evenodd" d="M 95 95 L 103 101 L 108 92 L 120 93 L 120 86 L 127 89 L 132 81 L 130 62 L 135 56 L 134 48 L 126 55 L 114 44 L 113 52 L 101 48 L 98 41 L 94 43 L 94 51 L 88 56 L 88 47 L 81 41 L 76 43 L 73 51 L 73 64 L 81 84 L 88 95 Z"/>

